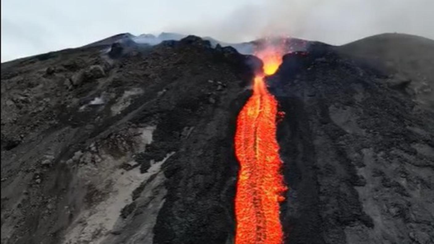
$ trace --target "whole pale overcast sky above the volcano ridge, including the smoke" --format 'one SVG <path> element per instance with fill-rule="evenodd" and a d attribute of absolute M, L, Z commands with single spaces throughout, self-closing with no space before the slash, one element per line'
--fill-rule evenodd
<path fill-rule="evenodd" d="M 434 39 L 434 0 L 1 0 L 1 61 L 118 33 L 226 42 L 289 35 L 340 45 L 385 32 Z"/>

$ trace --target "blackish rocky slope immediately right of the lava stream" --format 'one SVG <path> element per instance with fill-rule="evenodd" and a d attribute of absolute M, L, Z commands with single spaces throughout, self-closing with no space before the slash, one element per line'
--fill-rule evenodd
<path fill-rule="evenodd" d="M 387 206 L 423 206 L 425 214 L 433 207 L 434 155 L 426 154 L 433 111 L 333 49 L 289 54 L 269 79 L 286 113 L 278 141 L 290 188 L 282 205 L 287 243 L 411 243 L 413 228 L 431 233 L 432 226 L 397 218 Z M 423 196 L 410 178 L 426 183 Z"/>

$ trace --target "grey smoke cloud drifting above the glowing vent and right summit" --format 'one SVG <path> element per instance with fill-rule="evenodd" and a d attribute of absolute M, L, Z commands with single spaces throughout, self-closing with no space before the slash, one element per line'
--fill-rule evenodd
<path fill-rule="evenodd" d="M 433 0 L 270 0 L 171 29 L 228 42 L 284 35 L 341 45 L 392 32 L 434 39 L 433 9 Z"/>

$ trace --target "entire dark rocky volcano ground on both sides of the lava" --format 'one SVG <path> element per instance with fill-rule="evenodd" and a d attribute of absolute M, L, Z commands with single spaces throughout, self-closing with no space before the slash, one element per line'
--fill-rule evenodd
<path fill-rule="evenodd" d="M 232 244 L 260 60 L 214 44 L 122 34 L 2 63 L 1 243 Z M 293 45 L 267 79 L 285 244 L 433 243 L 434 41 Z"/>

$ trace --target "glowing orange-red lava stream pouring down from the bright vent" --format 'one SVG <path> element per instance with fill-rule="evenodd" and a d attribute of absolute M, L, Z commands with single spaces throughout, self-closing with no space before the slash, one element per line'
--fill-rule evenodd
<path fill-rule="evenodd" d="M 279 202 L 283 201 L 283 176 L 276 141 L 277 101 L 265 84 L 276 72 L 282 53 L 266 49 L 256 54 L 264 74 L 257 75 L 253 94 L 237 118 L 235 153 L 240 163 L 235 197 L 236 244 L 281 244 Z"/>

